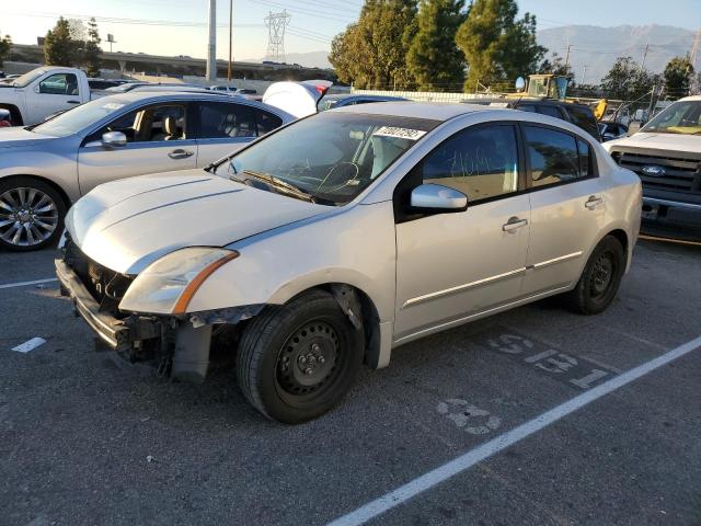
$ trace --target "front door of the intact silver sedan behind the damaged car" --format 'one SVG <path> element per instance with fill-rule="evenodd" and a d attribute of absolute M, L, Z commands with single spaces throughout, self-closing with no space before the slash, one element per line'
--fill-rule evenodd
<path fill-rule="evenodd" d="M 186 110 L 184 103 L 146 106 L 87 137 L 78 151 L 81 193 L 116 179 L 196 168 L 197 141 L 191 138 Z M 126 146 L 103 146 L 106 132 L 125 134 Z"/>

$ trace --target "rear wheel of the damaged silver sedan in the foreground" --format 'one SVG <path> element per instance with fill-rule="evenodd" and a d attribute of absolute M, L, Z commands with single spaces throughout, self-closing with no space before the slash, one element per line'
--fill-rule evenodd
<path fill-rule="evenodd" d="M 564 295 L 565 305 L 581 315 L 604 312 L 616 298 L 624 272 L 623 247 L 607 236 L 591 252 L 577 286 Z"/>

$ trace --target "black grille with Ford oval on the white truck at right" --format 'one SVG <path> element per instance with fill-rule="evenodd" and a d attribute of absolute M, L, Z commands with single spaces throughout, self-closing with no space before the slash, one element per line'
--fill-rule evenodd
<path fill-rule="evenodd" d="M 701 192 L 701 163 L 698 159 L 648 156 L 632 152 L 614 152 L 618 163 L 640 175 L 643 186 L 673 192 Z M 660 167 L 665 170 L 662 176 L 646 175 L 644 167 Z"/>

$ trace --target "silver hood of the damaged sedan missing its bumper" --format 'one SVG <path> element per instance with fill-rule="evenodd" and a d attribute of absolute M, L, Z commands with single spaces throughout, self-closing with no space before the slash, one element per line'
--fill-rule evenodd
<path fill-rule="evenodd" d="M 138 274 L 173 250 L 223 247 L 326 210 L 204 170 L 185 170 L 102 184 L 71 207 L 66 227 L 92 260 Z"/>

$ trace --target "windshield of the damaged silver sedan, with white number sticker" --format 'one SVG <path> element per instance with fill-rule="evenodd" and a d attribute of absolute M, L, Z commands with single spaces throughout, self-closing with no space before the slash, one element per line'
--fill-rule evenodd
<path fill-rule="evenodd" d="M 275 178 L 317 202 L 345 204 L 412 148 L 437 121 L 320 113 L 238 153 L 220 175 Z"/>

